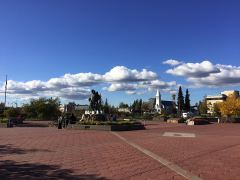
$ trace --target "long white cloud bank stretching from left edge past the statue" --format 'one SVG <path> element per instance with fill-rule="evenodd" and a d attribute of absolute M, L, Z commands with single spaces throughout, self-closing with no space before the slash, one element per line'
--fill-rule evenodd
<path fill-rule="evenodd" d="M 157 73 L 143 69 L 129 69 L 116 66 L 104 74 L 78 73 L 65 74 L 51 78 L 48 81 L 32 80 L 19 82 L 8 81 L 8 95 L 21 99 L 36 97 L 60 97 L 64 99 L 80 100 L 89 97 L 90 89 L 96 85 L 109 85 L 107 91 L 125 91 L 127 94 L 138 94 L 151 86 L 165 88 L 174 84 L 157 80 Z M 94 87 L 93 87 L 94 86 Z M 4 91 L 4 84 L 0 91 Z"/>

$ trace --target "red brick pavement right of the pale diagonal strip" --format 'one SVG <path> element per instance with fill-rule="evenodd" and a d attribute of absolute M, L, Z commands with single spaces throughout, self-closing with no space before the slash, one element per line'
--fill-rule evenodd
<path fill-rule="evenodd" d="M 195 133 L 196 138 L 163 137 L 164 132 Z M 159 123 L 119 134 L 203 179 L 240 179 L 240 124 Z"/>

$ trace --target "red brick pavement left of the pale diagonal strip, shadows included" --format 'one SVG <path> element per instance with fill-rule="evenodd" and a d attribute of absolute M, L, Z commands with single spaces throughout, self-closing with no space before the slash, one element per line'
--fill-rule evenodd
<path fill-rule="evenodd" d="M 183 179 L 110 132 L 0 129 L 0 179 Z"/>

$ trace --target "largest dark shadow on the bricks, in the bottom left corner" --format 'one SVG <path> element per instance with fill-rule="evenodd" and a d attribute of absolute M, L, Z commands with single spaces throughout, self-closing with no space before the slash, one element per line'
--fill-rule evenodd
<path fill-rule="evenodd" d="M 57 165 L 18 163 L 0 161 L 0 179 L 93 179 L 105 180 L 94 174 L 75 175 L 72 170 L 61 169 Z"/>

